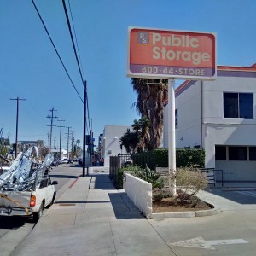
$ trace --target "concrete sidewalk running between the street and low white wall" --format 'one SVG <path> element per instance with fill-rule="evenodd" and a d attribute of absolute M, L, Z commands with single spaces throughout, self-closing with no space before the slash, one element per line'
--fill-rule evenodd
<path fill-rule="evenodd" d="M 107 174 L 79 177 L 12 255 L 175 255 Z"/>

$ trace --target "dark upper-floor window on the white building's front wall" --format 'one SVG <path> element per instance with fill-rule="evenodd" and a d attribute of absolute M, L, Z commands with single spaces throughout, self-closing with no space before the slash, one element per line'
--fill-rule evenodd
<path fill-rule="evenodd" d="M 224 92 L 224 118 L 253 119 L 253 93 Z"/>

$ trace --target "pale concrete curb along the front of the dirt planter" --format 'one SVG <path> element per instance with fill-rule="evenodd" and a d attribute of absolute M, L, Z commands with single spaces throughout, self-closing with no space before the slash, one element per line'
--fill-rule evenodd
<path fill-rule="evenodd" d="M 210 210 L 191 211 L 191 212 L 162 212 L 162 213 L 151 213 L 150 218 L 194 218 L 194 217 L 205 217 L 218 214 L 218 208 L 214 207 Z"/>

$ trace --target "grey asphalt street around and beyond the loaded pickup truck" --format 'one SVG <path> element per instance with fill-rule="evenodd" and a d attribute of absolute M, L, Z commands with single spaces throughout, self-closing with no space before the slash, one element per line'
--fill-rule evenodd
<path fill-rule="evenodd" d="M 81 166 L 75 164 L 52 167 L 51 179 L 52 181 L 58 181 L 58 184 L 55 185 L 57 191 L 55 201 L 58 201 L 58 198 L 65 192 L 70 179 L 75 180 L 81 174 Z M 44 209 L 44 211 L 46 212 L 47 209 Z M 31 232 L 34 225 L 32 218 L 0 216 L 0 255 L 9 256 L 15 250 L 15 247 Z"/>

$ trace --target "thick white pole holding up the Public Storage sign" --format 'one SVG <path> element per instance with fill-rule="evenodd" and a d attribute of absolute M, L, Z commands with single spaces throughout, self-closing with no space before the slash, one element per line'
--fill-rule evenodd
<path fill-rule="evenodd" d="M 168 79 L 168 167 L 169 190 L 176 191 L 176 141 L 175 141 L 175 80 Z M 172 177 L 172 179 L 171 179 Z"/>

